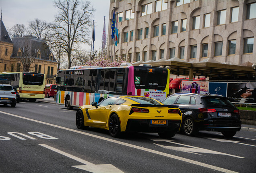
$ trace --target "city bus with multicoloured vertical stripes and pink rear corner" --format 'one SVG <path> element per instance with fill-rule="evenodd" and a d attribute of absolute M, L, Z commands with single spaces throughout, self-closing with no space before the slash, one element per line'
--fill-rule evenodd
<path fill-rule="evenodd" d="M 146 96 L 162 101 L 169 94 L 169 69 L 152 66 L 75 66 L 60 70 L 56 102 L 68 109 L 101 102 L 110 95 Z"/>

